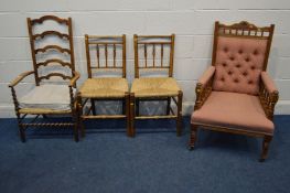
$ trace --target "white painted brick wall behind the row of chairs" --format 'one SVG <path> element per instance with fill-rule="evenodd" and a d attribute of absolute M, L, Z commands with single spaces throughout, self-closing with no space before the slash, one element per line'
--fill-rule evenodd
<path fill-rule="evenodd" d="M 32 69 L 25 18 L 72 17 L 77 69 L 86 78 L 83 35 L 127 34 L 128 75 L 133 75 L 132 34 L 176 34 L 174 77 L 184 112 L 194 104 L 196 79 L 211 62 L 214 21 L 276 24 L 269 72 L 280 90 L 276 114 L 290 114 L 289 0 L 0 0 L 0 117 L 14 116 L 8 84 Z M 23 83 L 29 87 L 32 79 Z"/>

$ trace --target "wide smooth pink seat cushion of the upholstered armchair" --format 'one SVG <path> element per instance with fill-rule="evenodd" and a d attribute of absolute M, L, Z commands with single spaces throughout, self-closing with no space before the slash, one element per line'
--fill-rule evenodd
<path fill-rule="evenodd" d="M 259 98 L 247 94 L 212 92 L 202 108 L 192 114 L 191 122 L 273 132 L 273 124 L 266 117 Z"/>

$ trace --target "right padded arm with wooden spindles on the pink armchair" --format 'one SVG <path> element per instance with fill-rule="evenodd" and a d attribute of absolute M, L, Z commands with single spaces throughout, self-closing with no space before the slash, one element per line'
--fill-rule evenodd
<path fill-rule="evenodd" d="M 259 98 L 267 117 L 272 120 L 275 106 L 279 98 L 279 92 L 268 73 L 261 73 Z"/>

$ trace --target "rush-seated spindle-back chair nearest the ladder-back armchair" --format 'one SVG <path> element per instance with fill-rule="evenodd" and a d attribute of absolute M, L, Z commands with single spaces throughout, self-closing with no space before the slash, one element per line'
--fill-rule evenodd
<path fill-rule="evenodd" d="M 129 132 L 129 86 L 126 79 L 126 35 L 85 35 L 88 79 L 78 92 L 80 130 L 85 136 L 84 120 L 126 118 Z M 121 115 L 97 115 L 95 101 L 122 101 Z M 90 101 L 88 104 L 87 101 Z M 89 106 L 89 108 L 84 108 Z M 92 115 L 93 114 L 93 115 Z"/>

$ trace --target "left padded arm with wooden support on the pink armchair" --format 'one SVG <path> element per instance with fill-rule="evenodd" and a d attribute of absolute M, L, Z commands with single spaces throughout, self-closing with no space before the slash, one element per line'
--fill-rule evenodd
<path fill-rule="evenodd" d="M 196 99 L 195 99 L 194 110 L 200 109 L 203 106 L 204 101 L 210 96 L 212 92 L 214 74 L 215 74 L 215 66 L 211 66 L 198 79 L 195 87 Z"/>

